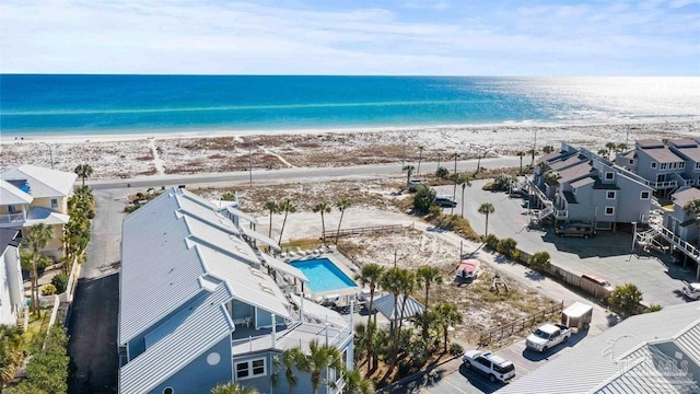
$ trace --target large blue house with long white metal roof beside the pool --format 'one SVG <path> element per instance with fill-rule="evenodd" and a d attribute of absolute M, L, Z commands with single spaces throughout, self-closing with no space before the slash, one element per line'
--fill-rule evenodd
<path fill-rule="evenodd" d="M 313 340 L 352 368 L 352 322 L 300 297 L 308 279 L 261 253 L 255 242 L 275 242 L 237 212 L 172 188 L 124 220 L 119 393 L 209 393 L 232 381 L 270 393 L 273 374 L 275 392 L 288 392 L 276 359 Z M 294 391 L 311 392 L 308 375 L 298 376 Z M 342 391 L 336 371 L 324 381 L 334 384 L 320 393 Z"/>

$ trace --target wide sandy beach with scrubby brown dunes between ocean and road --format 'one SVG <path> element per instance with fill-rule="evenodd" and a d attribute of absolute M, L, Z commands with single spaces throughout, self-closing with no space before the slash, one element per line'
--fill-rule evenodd
<path fill-rule="evenodd" d="M 93 178 L 131 178 L 280 167 L 326 167 L 357 164 L 417 163 L 515 155 L 535 144 L 561 141 L 592 150 L 607 142 L 643 138 L 700 136 L 700 121 L 614 125 L 479 125 L 423 128 L 294 131 L 215 131 L 159 135 L 108 135 L 0 139 L 2 167 L 20 164 L 72 171 L 80 163 L 94 169 Z M 421 149 L 422 147 L 422 153 Z"/>

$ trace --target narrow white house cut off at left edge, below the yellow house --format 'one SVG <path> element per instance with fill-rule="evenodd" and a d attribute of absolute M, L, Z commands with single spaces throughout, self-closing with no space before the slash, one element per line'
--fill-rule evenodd
<path fill-rule="evenodd" d="M 0 229 L 0 324 L 16 324 L 24 305 L 20 231 Z"/>

